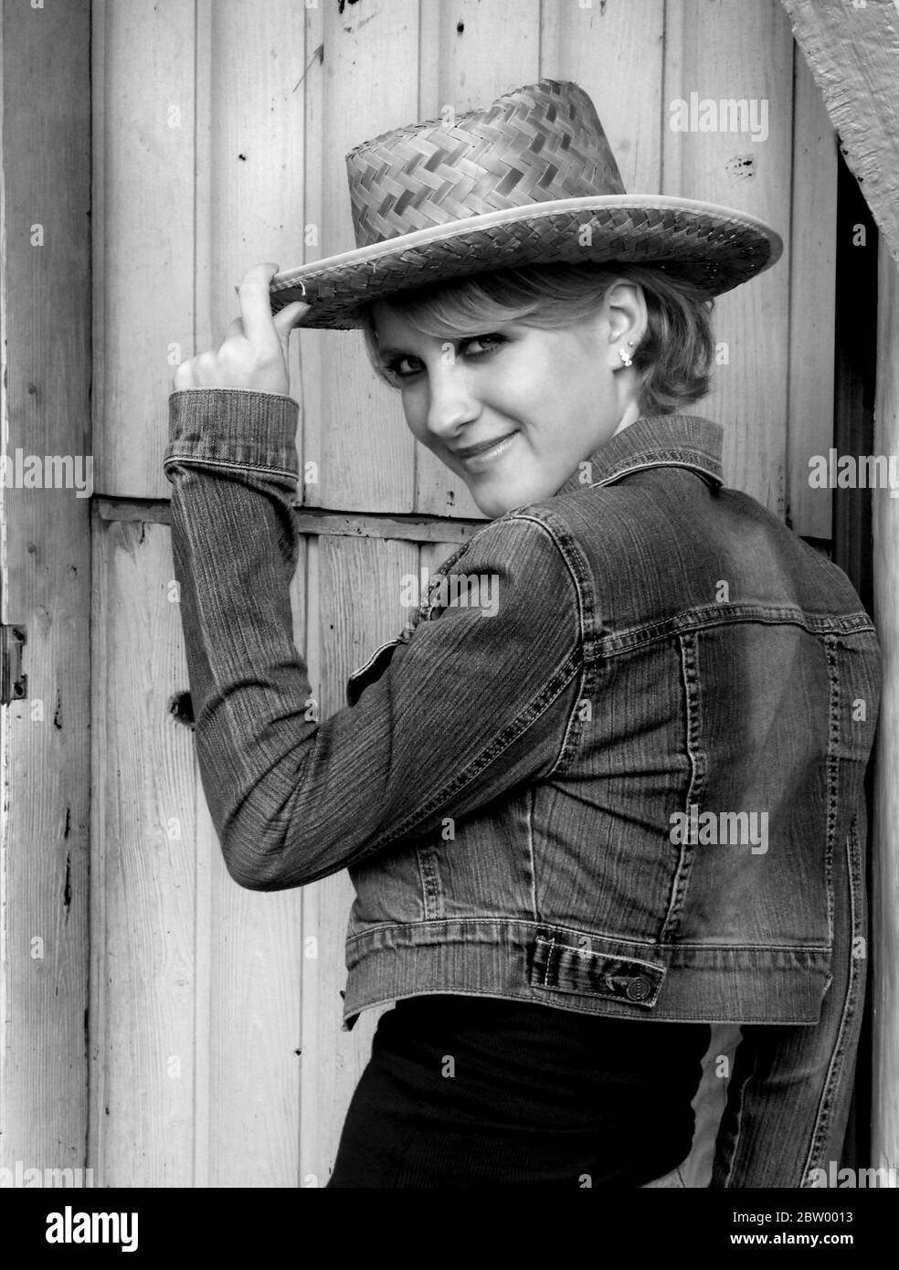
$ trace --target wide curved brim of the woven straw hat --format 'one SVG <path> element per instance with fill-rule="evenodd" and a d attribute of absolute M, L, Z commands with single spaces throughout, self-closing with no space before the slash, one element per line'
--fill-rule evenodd
<path fill-rule="evenodd" d="M 587 231 L 589 227 L 589 232 Z M 276 273 L 272 310 L 310 309 L 298 326 L 352 330 L 359 309 L 400 291 L 491 269 L 578 260 L 660 268 L 709 298 L 748 282 L 781 258 L 764 221 L 688 198 L 606 194 L 507 207 Z"/>

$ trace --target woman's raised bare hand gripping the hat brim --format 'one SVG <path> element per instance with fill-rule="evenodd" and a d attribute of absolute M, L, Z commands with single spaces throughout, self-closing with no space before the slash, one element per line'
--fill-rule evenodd
<path fill-rule="evenodd" d="M 235 318 L 218 352 L 210 351 L 182 362 L 171 380 L 182 389 L 255 389 L 259 392 L 290 391 L 287 342 L 293 324 L 309 305 L 296 301 L 272 314 L 269 282 L 277 264 L 254 264 L 237 287 L 240 318 Z"/>

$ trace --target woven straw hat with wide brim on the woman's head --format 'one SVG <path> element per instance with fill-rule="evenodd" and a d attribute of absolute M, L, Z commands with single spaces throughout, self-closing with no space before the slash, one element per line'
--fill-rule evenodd
<path fill-rule="evenodd" d="M 347 155 L 356 250 L 272 279 L 297 325 L 359 326 L 392 292 L 485 269 L 575 260 L 651 264 L 709 297 L 775 264 L 763 221 L 731 207 L 629 196 L 593 102 L 540 80 L 481 110 L 383 132 Z"/>

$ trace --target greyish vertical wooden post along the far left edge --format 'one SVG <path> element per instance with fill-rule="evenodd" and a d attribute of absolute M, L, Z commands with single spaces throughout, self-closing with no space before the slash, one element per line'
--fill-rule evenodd
<path fill-rule="evenodd" d="M 25 696 L 0 710 L 4 1168 L 85 1165 L 89 36 L 84 0 L 0 5 L 0 597 L 3 621 L 25 627 L 28 677 Z M 17 478 L 17 452 L 37 457 L 34 488 L 30 461 Z M 71 464 L 69 488 L 57 461 Z"/>

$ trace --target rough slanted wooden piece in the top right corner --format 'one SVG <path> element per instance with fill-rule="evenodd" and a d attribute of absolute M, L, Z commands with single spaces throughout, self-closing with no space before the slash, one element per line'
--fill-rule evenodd
<path fill-rule="evenodd" d="M 899 9 L 781 0 L 846 161 L 899 262 Z"/>

